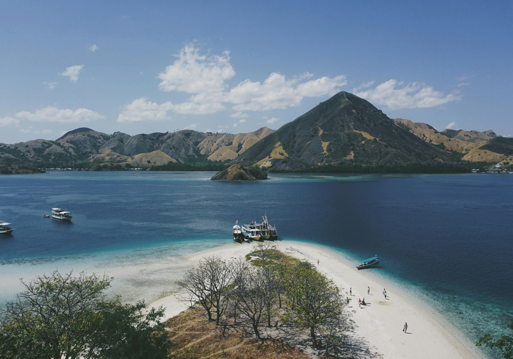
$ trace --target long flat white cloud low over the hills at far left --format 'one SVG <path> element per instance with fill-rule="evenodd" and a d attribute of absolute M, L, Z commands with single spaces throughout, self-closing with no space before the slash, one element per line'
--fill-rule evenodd
<path fill-rule="evenodd" d="M 27 121 L 61 123 L 81 123 L 104 118 L 104 116 L 98 112 L 85 108 L 79 108 L 73 111 L 70 109 L 60 109 L 54 106 L 40 108 L 34 112 L 18 112 L 16 113 L 15 117 L 18 119 L 26 119 Z"/>

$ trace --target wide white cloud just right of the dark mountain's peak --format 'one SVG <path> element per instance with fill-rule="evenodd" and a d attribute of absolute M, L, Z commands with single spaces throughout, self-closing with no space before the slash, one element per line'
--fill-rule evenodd
<path fill-rule="evenodd" d="M 374 89 L 356 92 L 355 94 L 367 99 L 374 105 L 387 106 L 390 110 L 436 107 L 461 99 L 458 91 L 444 96 L 442 92 L 416 82 L 409 83 L 402 88 L 396 88 L 402 84 L 402 82 L 390 79 Z"/>

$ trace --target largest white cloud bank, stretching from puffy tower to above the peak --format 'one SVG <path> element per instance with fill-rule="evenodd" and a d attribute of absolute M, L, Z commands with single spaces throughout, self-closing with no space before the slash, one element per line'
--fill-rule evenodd
<path fill-rule="evenodd" d="M 224 104 L 232 104 L 237 112 L 230 116 L 244 118 L 248 115 L 242 111 L 299 106 L 304 97 L 333 95 L 347 84 L 343 75 L 310 79 L 313 75 L 305 72 L 288 79 L 273 72 L 263 83 L 246 79 L 229 89 L 225 81 L 232 78 L 235 71 L 228 51 L 206 56 L 189 44 L 176 57 L 173 65 L 167 66 L 157 77 L 162 80 L 159 88 L 163 91 L 192 94 L 185 102 L 172 106 L 172 111 L 179 114 L 212 114 L 224 110 Z"/>

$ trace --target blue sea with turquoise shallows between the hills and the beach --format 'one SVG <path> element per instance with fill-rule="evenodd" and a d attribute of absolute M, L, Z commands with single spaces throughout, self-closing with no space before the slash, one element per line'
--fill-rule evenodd
<path fill-rule="evenodd" d="M 212 175 L 0 176 L 0 220 L 15 228 L 0 236 L 0 302 L 22 289 L 19 278 L 57 268 L 108 271 L 124 298 L 151 302 L 183 273 L 163 266 L 231 243 L 235 220 L 266 213 L 284 242 L 326 245 L 354 264 L 378 254 L 369 275 L 400 286 L 470 349 L 513 318 L 513 175 L 270 174 L 255 183 Z M 67 206 L 72 223 L 43 217 Z"/>

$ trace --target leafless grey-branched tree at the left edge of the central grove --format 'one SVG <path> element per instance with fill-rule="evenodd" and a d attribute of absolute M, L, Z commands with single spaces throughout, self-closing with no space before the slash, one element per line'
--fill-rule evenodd
<path fill-rule="evenodd" d="M 215 324 L 228 305 L 224 295 L 228 284 L 232 282 L 233 272 L 229 263 L 217 256 L 201 258 L 198 266 L 188 270 L 181 281 L 176 284 L 181 289 L 181 300 L 193 308 L 197 302 L 207 311 L 208 320 L 212 321 L 212 312 L 216 313 Z"/>

